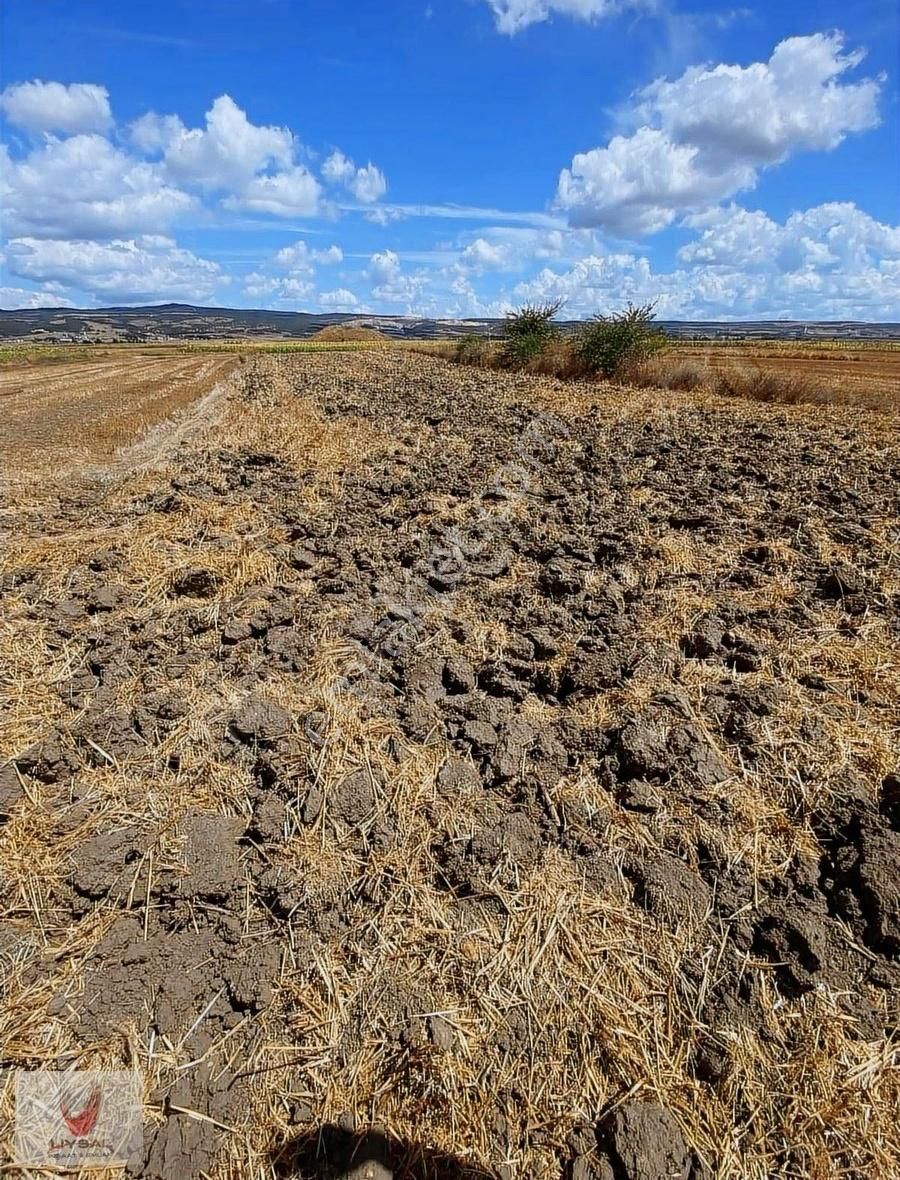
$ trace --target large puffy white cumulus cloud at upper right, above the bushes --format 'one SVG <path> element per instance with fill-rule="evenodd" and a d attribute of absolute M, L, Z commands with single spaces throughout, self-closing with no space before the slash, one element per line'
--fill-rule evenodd
<path fill-rule="evenodd" d="M 639 92 L 632 133 L 579 152 L 557 204 L 571 224 L 652 234 L 750 189 L 761 168 L 828 151 L 878 123 L 880 80 L 848 81 L 861 60 L 839 33 L 781 41 L 768 61 L 692 66 Z"/>

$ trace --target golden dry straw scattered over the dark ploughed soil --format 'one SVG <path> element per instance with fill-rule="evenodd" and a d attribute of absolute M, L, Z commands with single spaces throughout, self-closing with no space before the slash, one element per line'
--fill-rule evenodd
<path fill-rule="evenodd" d="M 211 382 L 222 375 L 204 356 L 191 358 L 188 368 L 182 367 L 184 359 L 170 363 L 176 368 L 166 372 L 149 362 L 143 372 L 142 382 L 157 391 L 147 413 L 167 413 L 184 404 L 188 393 L 196 396 L 201 379 Z M 42 387 L 34 374 L 22 380 L 57 402 L 65 387 L 85 409 L 104 407 L 121 379 L 117 365 L 92 368 L 79 361 L 65 373 L 51 373 Z M 297 477 L 296 504 L 311 519 L 329 514 L 355 473 L 400 448 L 392 433 L 396 422 L 362 413 L 359 391 L 410 388 L 425 379 L 452 386 L 460 374 L 438 360 L 389 352 L 265 355 L 248 365 L 254 367 L 256 396 L 219 402 L 208 419 L 193 424 L 184 441 L 189 451 L 208 454 L 249 448 L 275 455 Z M 599 392 L 596 386 L 533 378 L 465 378 L 473 379 L 482 398 L 525 402 L 564 418 L 593 411 L 611 438 L 623 421 L 646 422 L 658 431 L 702 431 L 704 415 L 727 415 L 783 431 L 814 428 L 836 446 L 850 434 L 858 464 L 892 446 L 886 422 L 860 411 L 786 409 L 725 401 L 705 391 Z M 356 391 L 348 411 L 323 413 L 322 401 L 340 401 L 342 389 Z M 113 434 L 86 431 L 85 461 L 94 463 L 98 448 L 111 439 L 132 441 L 146 425 L 143 414 L 130 424 L 127 439 L 118 426 Z M 423 427 L 409 420 L 402 428 L 405 448 L 414 454 Z M 454 438 L 452 424 L 445 431 L 446 447 L 462 454 L 465 446 Z M 51 453 L 61 445 L 57 439 Z M 125 614 L 117 616 L 119 627 L 164 623 L 180 610 L 169 588 L 196 562 L 199 546 L 204 566 L 216 576 L 213 596 L 197 607 L 208 622 L 215 623 L 238 596 L 251 604 L 254 594 L 280 577 L 278 546 L 285 537 L 260 518 L 251 500 L 216 500 L 186 491 L 175 511 L 133 514 L 136 502 L 167 494 L 170 478 L 183 474 L 182 458 L 167 455 L 164 446 L 156 467 L 137 474 L 119 471 L 101 483 L 87 480 L 83 512 L 53 518 L 51 510 L 51 527 L 44 527 L 31 516 L 32 505 L 52 504 L 60 489 L 48 465 L 37 465 L 42 446 L 37 434 L 33 442 L 26 438 L 20 444 L 20 470 L 35 466 L 11 505 L 5 573 L 37 570 L 46 592 L 64 598 L 85 553 L 116 548 L 121 555 L 116 578 L 132 592 Z M 636 494 L 642 470 L 636 466 L 632 473 Z M 445 524 L 454 516 L 464 518 L 459 503 L 447 509 L 441 489 L 433 492 L 434 516 L 442 513 Z M 636 503 L 648 511 L 653 507 L 650 493 Z M 431 520 L 426 509 L 419 526 L 427 529 Z M 871 529 L 872 565 L 885 590 L 896 592 L 891 523 L 873 520 Z M 204 544 L 210 536 L 221 539 L 217 550 Z M 675 530 L 656 539 L 651 563 L 619 571 L 623 582 L 631 577 L 656 586 L 653 611 L 643 624 L 648 642 L 688 629 L 715 607 L 716 595 L 702 586 L 715 583 L 715 571 L 733 565 L 736 553 L 727 532 L 707 544 L 688 542 Z M 828 556 L 825 539 L 822 546 Z M 764 590 L 770 604 L 794 592 L 790 563 L 786 550 L 781 581 L 773 578 Z M 514 581 L 514 570 L 511 577 Z M 85 617 L 60 641 L 26 599 L 12 596 L 7 605 L 0 630 L 0 738 L 15 755 L 47 733 L 66 734 L 78 725 L 80 713 L 63 706 L 58 689 L 105 623 L 101 616 Z M 452 614 L 469 622 L 473 644 L 491 657 L 504 651 L 511 636 L 504 620 L 486 618 L 482 607 L 460 592 Z M 216 1123 L 216 1174 L 271 1175 L 272 1153 L 291 1133 L 291 1109 L 307 1103 L 316 1123 L 352 1112 L 360 1125 L 377 1125 L 401 1140 L 427 1143 L 473 1165 L 505 1163 L 511 1175 L 557 1180 L 572 1126 L 593 1123 L 626 1097 L 638 1096 L 663 1103 L 709 1174 L 722 1180 L 896 1175 L 900 1073 L 894 1042 L 861 1038 L 826 986 L 787 1001 L 770 964 L 750 953 L 741 970 L 753 981 L 762 1025 L 708 1028 L 704 998 L 734 969 L 724 953 L 728 930 L 704 920 L 705 914 L 644 912 L 628 899 L 622 873 L 631 854 L 679 850 L 690 863 L 704 845 L 721 863 L 741 865 L 754 880 L 768 883 L 797 852 L 816 854 L 804 815 L 846 775 L 873 781 L 894 768 L 896 634 L 879 621 L 847 634 L 835 610 L 832 625 L 826 616 L 820 630 L 788 637 L 777 661 L 754 673 L 756 683 L 777 683 L 787 696 L 758 760 L 751 766 L 729 761 L 730 776 L 721 787 L 733 806 L 728 826 L 710 824 L 677 798 L 666 801 L 652 822 L 644 822 L 623 811 L 590 773 L 573 769 L 550 791 L 548 804 L 557 814 L 569 809 L 605 825 L 612 876 L 598 884 L 554 848 L 539 868 L 501 858 L 485 884 L 497 905 L 461 913 L 453 894 L 441 887 L 433 837 L 442 831 L 460 847 L 466 845 L 478 805 L 475 794 L 466 791 L 475 788 L 462 788 L 454 799 L 440 795 L 435 775 L 447 755 L 442 740 L 412 742 L 395 721 L 341 689 L 353 658 L 353 648 L 341 637 L 344 622 L 340 609 L 330 618 L 326 611 L 308 666 L 300 674 L 270 675 L 264 691 L 291 716 L 324 717 L 326 740 L 310 753 L 307 769 L 328 800 L 336 784 L 362 768 L 370 775 L 375 800 L 363 826 L 374 830 L 389 817 L 394 835 L 360 856 L 359 832 L 330 814 L 326 801 L 314 824 L 289 824 L 284 840 L 270 853 L 272 864 L 297 883 L 304 917 L 285 930 L 272 1007 L 248 1017 L 257 1025 L 256 1048 L 239 1068 L 252 1077 L 252 1109 L 237 1125 Z M 85 963 L 112 920 L 113 906 L 101 904 L 73 925 L 54 909 L 52 897 L 68 872 L 73 848 L 92 835 L 143 826 L 155 834 L 152 860 L 143 867 L 159 872 L 178 860 L 173 833 L 183 815 L 249 815 L 248 773 L 223 761 L 219 750 L 221 719 L 244 690 L 222 674 L 212 654 L 210 648 L 210 658 L 188 677 L 186 714 L 165 740 L 163 754 L 175 769 L 160 775 L 158 753 L 152 759 L 140 753 L 120 759 L 104 758 L 100 749 L 97 765 L 79 774 L 78 799 L 59 785 L 29 781 L 17 813 L 0 828 L 4 929 L 24 940 L 18 958 L 4 961 L 4 1064 L 54 1068 L 61 1058 L 84 1066 L 138 1064 L 146 1073 L 151 1123 L 160 1117 L 151 1094 L 196 1063 L 183 1042 L 162 1044 L 146 1029 L 123 1029 L 100 1043 L 79 1040 L 65 1020 L 65 1004 L 54 1003 L 54 997 L 78 995 Z M 815 742 L 804 729 L 809 699 L 797 687 L 810 670 L 832 686 L 825 728 Z M 582 722 L 610 728 L 664 684 L 658 670 L 648 667 L 628 686 L 585 704 Z M 158 687 L 165 688 L 162 670 Z M 711 687 L 702 667 L 682 684 L 697 716 Z M 145 690 L 145 681 L 125 675 L 111 703 L 127 707 Z M 540 714 L 540 707 L 528 708 L 533 716 Z M 722 755 L 730 759 L 728 750 Z M 367 898 L 379 903 L 376 922 Z M 354 938 L 329 942 L 310 935 L 309 916 L 335 906 Z M 37 974 L 26 966 L 29 945 L 41 956 Z M 687 970 L 697 964 L 699 971 Z M 203 1012 L 195 1016 L 202 1020 Z M 400 1024 L 435 1020 L 444 1030 L 441 1051 L 432 1042 L 400 1035 Z M 717 1088 L 697 1081 L 691 1070 L 698 1038 L 709 1035 L 717 1038 L 729 1067 Z M 230 1060 L 236 1043 L 230 1037 L 215 1044 L 210 1060 Z M 11 1102 L 7 1081 L 0 1094 L 6 1141 Z"/>

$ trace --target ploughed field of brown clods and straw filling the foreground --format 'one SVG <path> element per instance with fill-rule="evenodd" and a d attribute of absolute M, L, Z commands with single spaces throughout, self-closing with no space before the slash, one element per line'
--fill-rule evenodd
<path fill-rule="evenodd" d="M 231 381 L 6 513 L 2 1066 L 147 1178 L 900 1174 L 895 419 Z"/>

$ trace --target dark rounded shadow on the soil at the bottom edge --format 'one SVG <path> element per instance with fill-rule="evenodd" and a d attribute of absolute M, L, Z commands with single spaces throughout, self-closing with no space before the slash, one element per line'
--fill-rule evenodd
<path fill-rule="evenodd" d="M 278 1180 L 361 1180 L 366 1163 L 380 1165 L 373 1178 L 387 1172 L 392 1180 L 495 1180 L 495 1174 L 418 1143 L 380 1132 L 357 1134 L 333 1123 L 284 1143 L 272 1155 Z"/>

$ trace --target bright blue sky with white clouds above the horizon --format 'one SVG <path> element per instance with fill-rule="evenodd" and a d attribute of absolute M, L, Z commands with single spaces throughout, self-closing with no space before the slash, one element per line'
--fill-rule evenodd
<path fill-rule="evenodd" d="M 900 320 L 895 0 L 6 0 L 0 306 Z"/>

